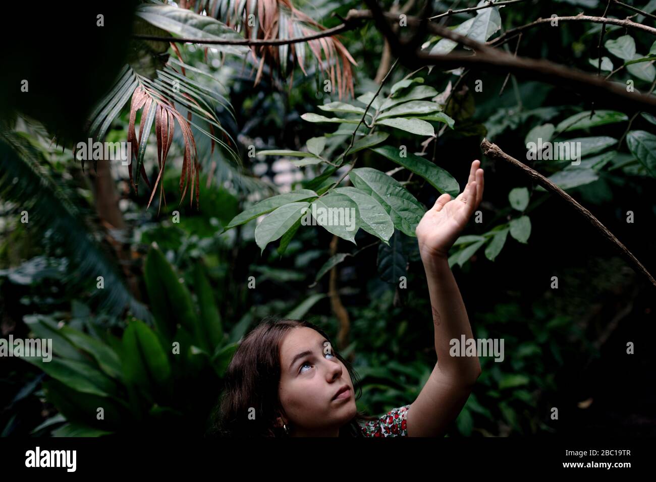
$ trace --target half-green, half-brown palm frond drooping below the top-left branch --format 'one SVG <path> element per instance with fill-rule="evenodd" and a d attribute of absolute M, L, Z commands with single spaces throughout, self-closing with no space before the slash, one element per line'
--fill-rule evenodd
<path fill-rule="evenodd" d="M 197 183 L 201 164 L 195 149 L 192 125 L 211 139 L 212 150 L 210 156 L 214 153 L 215 144 L 219 144 L 231 159 L 237 164 L 241 163 L 236 150 L 233 148 L 233 146 L 237 146 L 237 143 L 222 127 L 215 112 L 216 105 L 220 105 L 234 117 L 234 111 L 228 100 L 198 81 L 184 75 L 176 67 L 184 73 L 187 73 L 186 71 L 199 71 L 180 60 L 171 58 L 163 69 L 155 70 L 154 79 L 150 79 L 148 76 L 135 71 L 132 66 L 125 66 L 112 91 L 92 112 L 89 135 L 102 142 L 113 119 L 117 117 L 127 104 L 128 99 L 131 98 L 127 137 L 127 142 L 131 144 L 129 178 L 135 193 L 138 193 L 140 178 L 143 178 L 148 188 L 152 190 L 148 207 L 154 199 L 157 186 L 160 187 L 161 207 L 163 185 L 160 182 L 162 171 L 166 166 L 167 155 L 171 148 L 175 123 L 180 127 L 184 140 L 184 156 L 180 174 L 180 203 L 182 203 L 191 184 L 190 203 L 192 203 L 195 191 L 196 205 L 199 204 Z M 180 113 L 180 108 L 184 108 L 188 112 L 186 119 Z M 138 111 L 141 111 L 141 115 L 137 134 L 135 123 Z M 203 129 L 201 125 L 192 121 L 194 114 L 203 123 L 207 124 L 207 129 Z M 153 125 L 155 126 L 155 139 L 157 142 L 159 174 L 154 185 L 151 186 L 144 167 L 144 154 Z M 220 132 L 220 137 L 216 136 L 216 132 Z M 136 174 L 133 170 L 136 171 Z M 166 199 L 164 199 L 164 202 L 166 203 Z"/>

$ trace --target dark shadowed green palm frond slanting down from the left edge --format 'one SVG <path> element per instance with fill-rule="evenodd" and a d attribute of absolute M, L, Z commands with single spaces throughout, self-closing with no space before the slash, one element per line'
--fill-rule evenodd
<path fill-rule="evenodd" d="M 121 315 L 129 307 L 134 316 L 151 321 L 148 308 L 127 289 L 117 268 L 81 221 L 81 211 L 46 166 L 47 160 L 25 134 L 0 128 L 0 197 L 20 203 L 29 213 L 30 226 L 42 231 L 53 229 L 64 237 L 63 245 L 77 267 L 68 281 L 104 278 L 104 289 L 92 294 L 92 298 L 100 298 L 99 308 Z"/>

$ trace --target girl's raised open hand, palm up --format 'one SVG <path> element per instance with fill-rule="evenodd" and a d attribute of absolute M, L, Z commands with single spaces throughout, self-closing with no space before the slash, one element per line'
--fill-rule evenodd
<path fill-rule="evenodd" d="M 447 258 L 460 231 L 478 208 L 483 198 L 484 184 L 483 169 L 478 169 L 480 165 L 478 159 L 472 162 L 467 186 L 458 197 L 451 200 L 451 195 L 442 194 L 421 218 L 415 234 L 422 260 Z"/>

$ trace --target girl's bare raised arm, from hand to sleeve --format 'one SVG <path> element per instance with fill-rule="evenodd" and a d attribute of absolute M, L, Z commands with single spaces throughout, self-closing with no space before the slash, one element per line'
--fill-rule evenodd
<path fill-rule="evenodd" d="M 467 401 L 481 373 L 478 357 L 452 357 L 449 341 L 473 338 L 467 311 L 447 261 L 448 252 L 483 197 L 483 169 L 472 162 L 464 191 L 455 199 L 449 194 L 438 197 L 417 226 L 419 252 L 426 278 L 435 329 L 438 355 L 430 378 L 407 411 L 410 437 L 443 435 Z M 462 347 L 464 348 L 464 347 Z"/>

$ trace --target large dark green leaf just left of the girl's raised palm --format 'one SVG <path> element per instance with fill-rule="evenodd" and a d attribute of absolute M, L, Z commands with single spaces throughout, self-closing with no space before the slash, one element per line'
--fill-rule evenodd
<path fill-rule="evenodd" d="M 417 224 L 426 209 L 396 179 L 370 167 L 353 169 L 349 178 L 356 188 L 371 195 L 385 208 L 396 228 L 416 237 Z"/>

